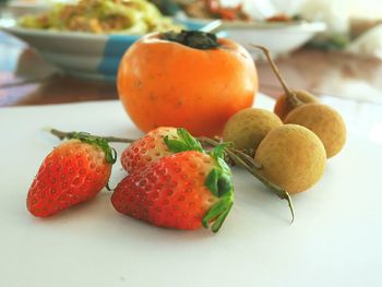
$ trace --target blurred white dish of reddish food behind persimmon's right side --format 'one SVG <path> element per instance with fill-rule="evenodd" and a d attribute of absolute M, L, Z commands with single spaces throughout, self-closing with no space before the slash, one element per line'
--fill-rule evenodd
<path fill-rule="evenodd" d="M 287 14 L 270 1 L 224 0 L 152 0 L 162 9 L 177 3 L 189 19 L 218 19 L 222 25 L 215 29 L 231 38 L 259 58 L 250 44 L 267 47 L 273 56 L 288 53 L 325 29 L 324 23 L 305 21 L 298 13 Z M 165 11 L 165 10 L 164 10 Z M 177 13 L 177 16 L 179 12 Z"/>

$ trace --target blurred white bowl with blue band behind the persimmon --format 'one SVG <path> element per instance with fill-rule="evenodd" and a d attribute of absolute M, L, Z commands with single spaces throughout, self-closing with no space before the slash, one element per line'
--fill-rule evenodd
<path fill-rule="evenodd" d="M 219 21 L 180 22 L 189 29 L 208 32 Z M 57 32 L 2 25 L 0 29 L 27 43 L 43 59 L 63 72 L 87 79 L 115 80 L 120 59 L 142 35 Z"/>

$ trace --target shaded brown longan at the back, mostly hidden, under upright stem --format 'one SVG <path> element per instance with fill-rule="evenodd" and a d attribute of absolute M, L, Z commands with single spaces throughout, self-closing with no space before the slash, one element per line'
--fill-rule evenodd
<path fill-rule="evenodd" d="M 302 103 L 302 105 L 319 101 L 319 99 L 315 96 L 313 96 L 307 91 L 294 89 L 291 92 L 295 93 L 296 97 Z M 299 106 L 298 105 L 296 106 L 293 103 L 293 100 L 290 100 L 290 97 L 288 96 L 288 94 L 284 93 L 277 98 L 273 111 L 284 121 L 285 118 L 288 116 L 288 113 L 297 107 Z"/>

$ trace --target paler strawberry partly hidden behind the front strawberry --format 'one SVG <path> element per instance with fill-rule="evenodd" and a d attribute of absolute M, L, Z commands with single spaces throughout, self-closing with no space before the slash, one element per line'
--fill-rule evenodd
<path fill-rule="evenodd" d="M 202 146 L 198 146 L 198 142 L 183 129 L 160 127 L 150 131 L 143 137 L 134 141 L 129 145 L 121 155 L 121 164 L 128 174 L 132 174 L 135 169 L 141 169 L 151 163 L 174 154 L 166 144 L 166 141 L 177 141 L 177 151 L 194 150 L 203 151 Z M 198 146 L 198 147 L 195 147 Z M 179 150 L 181 148 L 181 150 Z"/>

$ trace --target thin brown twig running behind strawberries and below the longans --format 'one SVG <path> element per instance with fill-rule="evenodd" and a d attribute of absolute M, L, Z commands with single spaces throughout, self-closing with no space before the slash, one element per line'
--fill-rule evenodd
<path fill-rule="evenodd" d="M 49 132 L 51 134 L 56 135 L 57 137 L 59 137 L 61 141 L 64 139 L 72 139 L 73 135 L 75 134 L 75 132 L 63 132 L 63 131 L 56 130 L 56 129 L 49 129 Z M 114 142 L 114 143 L 133 143 L 135 141 L 133 139 L 117 137 L 117 136 L 102 136 L 102 135 L 94 135 L 94 136 L 100 137 L 100 139 L 106 140 L 107 142 Z M 217 146 L 220 144 L 220 142 L 215 141 L 215 140 L 210 139 L 210 137 L 205 137 L 205 136 L 200 136 L 196 139 L 202 144 L 207 144 L 211 146 Z M 289 206 L 289 210 L 291 213 L 291 223 L 293 223 L 295 220 L 295 210 L 294 210 L 294 205 L 293 205 L 289 193 L 287 191 L 285 191 L 284 189 L 267 181 L 263 177 L 261 177 L 258 174 L 258 170 L 261 169 L 262 166 L 256 164 L 252 157 L 248 156 L 247 154 L 244 154 L 241 151 L 238 151 L 238 150 L 231 148 L 231 147 L 228 147 L 228 148 L 226 147 L 225 151 L 226 151 L 227 155 L 237 165 L 244 167 L 252 176 L 254 176 L 256 179 L 259 179 L 265 187 L 267 187 L 272 192 L 274 192 L 279 199 L 286 200 L 288 202 L 288 206 Z"/>

